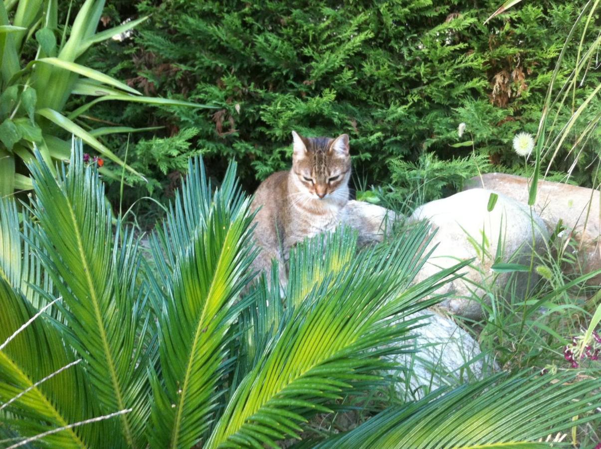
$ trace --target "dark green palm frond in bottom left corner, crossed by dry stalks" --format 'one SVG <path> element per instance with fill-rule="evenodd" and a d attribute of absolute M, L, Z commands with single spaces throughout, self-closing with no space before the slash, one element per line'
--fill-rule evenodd
<path fill-rule="evenodd" d="M 34 315 L 28 302 L 3 279 L 0 279 L 0 307 L 10 311 L 0 316 L 0 341 L 5 341 Z M 67 352 L 52 325 L 43 318 L 32 322 L 0 350 L 0 407 L 6 405 L 6 410 L 15 416 L 12 420 L 3 419 L 0 410 L 0 421 L 11 424 L 19 435 L 33 436 L 81 419 L 90 410 L 88 403 L 91 402 L 85 394 L 87 388 L 77 388 L 83 379 L 77 367 L 35 385 L 73 361 L 73 354 Z M 74 400 L 75 394 L 78 400 Z M 56 433 L 45 441 L 57 447 L 88 447 L 85 440 L 89 444 L 85 434 L 72 429 Z"/>

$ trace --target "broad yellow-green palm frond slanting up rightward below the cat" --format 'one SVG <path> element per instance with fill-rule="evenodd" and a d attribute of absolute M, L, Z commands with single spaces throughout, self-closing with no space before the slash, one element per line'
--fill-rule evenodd
<path fill-rule="evenodd" d="M 381 379 L 376 371 L 391 366 L 383 356 L 410 350 L 409 331 L 417 320 L 403 317 L 431 304 L 418 300 L 462 266 L 407 289 L 415 273 L 407 263 L 419 259 L 415 249 L 424 248 L 426 235 L 427 227 L 421 225 L 404 239 L 352 260 L 337 257 L 356 251 L 355 239 L 343 230 L 329 234 L 327 242 L 301 245 L 291 264 L 309 272 L 309 264 L 319 264 L 324 254 L 329 265 L 334 259 L 345 263 L 323 276 L 319 267 L 312 271 L 317 282 L 296 305 L 288 304 L 279 325 L 275 323 L 276 331 L 225 405 L 205 447 L 277 447 L 278 439 L 297 438 L 301 424 L 317 411 L 331 411 L 337 400 L 357 392 L 357 383 Z M 288 292 L 306 290 L 307 279 L 292 276 L 289 282 L 303 284 Z"/>

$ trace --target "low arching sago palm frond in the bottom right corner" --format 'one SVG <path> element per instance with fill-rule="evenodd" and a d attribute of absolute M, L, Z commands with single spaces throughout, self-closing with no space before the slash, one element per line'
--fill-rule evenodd
<path fill-rule="evenodd" d="M 549 447 L 538 440 L 593 420 L 590 412 L 601 406 L 601 379 L 576 377 L 574 371 L 513 377 L 499 373 L 452 391 L 439 389 L 317 447 Z"/>

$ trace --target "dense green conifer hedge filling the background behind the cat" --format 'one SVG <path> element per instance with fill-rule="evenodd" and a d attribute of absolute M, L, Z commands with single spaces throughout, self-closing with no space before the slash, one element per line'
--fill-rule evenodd
<path fill-rule="evenodd" d="M 536 132 L 552 70 L 584 4 L 524 1 L 483 25 L 498 0 L 116 2 L 107 23 L 151 17 L 132 38 L 97 47 L 87 63 L 114 67 L 111 75 L 145 94 L 218 109 L 107 104 L 95 111 L 117 123 L 165 126 L 163 136 L 133 135 L 129 145 L 127 162 L 150 175 L 146 187 L 154 192 L 171 192 L 177 177 L 169 174 L 198 152 L 215 177 L 236 159 L 252 190 L 288 166 L 292 129 L 349 133 L 355 173 L 367 184 L 388 182 L 391 161 L 417 160 L 424 151 L 441 159 L 475 151 L 487 156 L 489 170 L 524 173 L 511 139 Z M 575 39 L 566 49 L 559 86 L 577 47 Z M 599 73 L 588 67 L 583 79 L 576 98 L 590 94 Z M 568 101 L 557 130 L 572 108 Z M 468 140 L 474 148 L 450 146 Z M 600 141 L 599 132 L 587 140 L 573 180 L 591 184 L 588 165 Z M 125 138 L 109 143 L 125 156 Z M 573 154 L 564 159 L 572 144 L 566 139 L 555 170 L 572 163 Z"/>

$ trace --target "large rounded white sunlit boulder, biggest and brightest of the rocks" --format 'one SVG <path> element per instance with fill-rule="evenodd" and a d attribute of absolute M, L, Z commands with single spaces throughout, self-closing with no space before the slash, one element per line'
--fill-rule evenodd
<path fill-rule="evenodd" d="M 482 318 L 480 302 L 490 304 L 488 293 L 491 290 L 495 290 L 497 297 L 523 298 L 528 276 L 533 276 L 531 283 L 537 280 L 535 273 L 493 272 L 491 267 L 497 255 L 498 262 L 529 265 L 532 250 L 545 251 L 548 238 L 542 219 L 536 214 L 531 216 L 528 207 L 505 195 L 498 195 L 495 207 L 489 212 L 491 193 L 484 189 L 460 192 L 424 204 L 410 217 L 410 221 L 427 219 L 436 230 L 426 248 L 433 252 L 419 270 L 416 281 L 459 261 L 475 258 L 463 269 L 465 275 L 462 278 L 435 292 L 447 296 L 441 302 L 442 308 L 474 320 Z M 514 284 L 510 283 L 511 276 L 515 276 Z"/>

